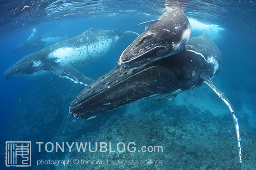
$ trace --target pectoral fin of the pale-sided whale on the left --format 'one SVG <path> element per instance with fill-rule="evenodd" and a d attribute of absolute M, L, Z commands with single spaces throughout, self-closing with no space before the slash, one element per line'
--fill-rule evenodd
<path fill-rule="evenodd" d="M 51 66 L 50 71 L 59 75 L 59 77 L 65 77 L 75 83 L 80 83 L 85 86 L 88 86 L 88 84 L 93 82 L 93 79 L 84 76 L 70 66 Z"/>

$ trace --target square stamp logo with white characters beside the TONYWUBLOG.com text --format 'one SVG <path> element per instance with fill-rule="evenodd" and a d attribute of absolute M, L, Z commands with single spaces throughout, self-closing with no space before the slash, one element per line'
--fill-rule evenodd
<path fill-rule="evenodd" d="M 6 141 L 5 166 L 31 166 L 31 141 Z"/>

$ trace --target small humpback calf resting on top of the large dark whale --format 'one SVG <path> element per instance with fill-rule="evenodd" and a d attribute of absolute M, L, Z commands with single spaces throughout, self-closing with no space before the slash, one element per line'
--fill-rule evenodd
<path fill-rule="evenodd" d="M 125 68 L 139 66 L 181 51 L 197 51 L 187 44 L 191 28 L 178 8 L 165 13 L 122 52 L 118 64 Z"/>

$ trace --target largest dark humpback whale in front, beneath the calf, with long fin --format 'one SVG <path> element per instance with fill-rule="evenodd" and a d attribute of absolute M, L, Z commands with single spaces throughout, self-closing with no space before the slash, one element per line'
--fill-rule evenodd
<path fill-rule="evenodd" d="M 116 66 L 79 93 L 69 108 L 70 114 L 82 119 L 143 99 L 174 97 L 202 84 L 209 86 L 227 105 L 233 118 L 242 162 L 238 119 L 232 104 L 211 81 L 222 64 L 216 44 L 204 33 L 190 38 L 188 44 L 199 49 L 200 55 L 182 51 L 172 56 L 134 68 Z M 205 59 L 201 57 L 205 56 Z"/>

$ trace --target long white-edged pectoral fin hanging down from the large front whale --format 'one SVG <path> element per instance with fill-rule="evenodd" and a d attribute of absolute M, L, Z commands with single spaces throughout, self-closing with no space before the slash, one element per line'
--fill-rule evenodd
<path fill-rule="evenodd" d="M 210 87 L 218 95 L 218 97 L 220 97 L 220 99 L 222 99 L 222 101 L 226 104 L 226 106 L 229 108 L 231 117 L 234 121 L 235 128 L 236 128 L 236 138 L 237 138 L 237 142 L 238 142 L 239 159 L 240 159 L 240 163 L 242 163 L 242 153 L 241 153 L 242 147 L 241 147 L 239 126 L 238 126 L 238 118 L 236 116 L 236 112 L 235 112 L 231 102 L 229 101 L 227 96 L 222 91 L 220 91 L 219 88 L 217 88 L 217 86 L 211 81 L 211 79 L 209 77 L 207 77 L 205 75 L 200 75 L 200 81 L 202 81 L 202 84 L 206 84 L 208 87 Z"/>

